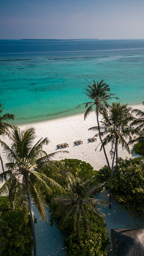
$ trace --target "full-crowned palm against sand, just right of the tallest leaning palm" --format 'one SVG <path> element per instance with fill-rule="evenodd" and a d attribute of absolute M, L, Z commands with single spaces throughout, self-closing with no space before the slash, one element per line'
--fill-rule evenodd
<path fill-rule="evenodd" d="M 103 130 L 100 132 L 101 136 L 107 135 L 103 139 L 103 145 L 107 145 L 109 142 L 111 143 L 110 154 L 113 158 L 112 167 L 111 167 L 111 177 L 113 177 L 113 169 L 114 169 L 114 160 L 116 156 L 116 167 L 117 167 L 117 158 L 118 152 L 117 147 L 121 144 L 123 149 L 126 149 L 130 154 L 130 149 L 128 143 L 125 139 L 129 136 L 131 138 L 131 129 L 128 124 L 134 120 L 135 118 L 132 115 L 132 109 L 127 107 L 126 105 L 120 105 L 120 103 L 112 103 L 112 106 L 108 107 L 108 112 L 103 111 L 103 118 L 100 123 L 102 124 Z M 98 126 L 92 127 L 89 130 L 98 131 Z M 99 133 L 95 135 L 97 137 Z M 100 150 L 102 149 L 102 145 Z M 117 152 L 117 153 L 116 153 Z M 111 188 L 109 195 L 109 208 L 111 208 Z"/>

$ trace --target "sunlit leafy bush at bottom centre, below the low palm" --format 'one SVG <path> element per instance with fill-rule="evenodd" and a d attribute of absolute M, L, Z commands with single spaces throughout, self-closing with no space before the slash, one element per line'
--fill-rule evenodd
<path fill-rule="evenodd" d="M 94 216 L 93 213 L 89 214 L 89 222 L 91 225 L 90 234 L 88 231 L 83 230 L 79 237 L 75 231 L 71 231 L 67 238 L 64 240 L 66 247 L 66 256 L 106 256 L 108 237 L 106 232 L 106 224 Z"/>

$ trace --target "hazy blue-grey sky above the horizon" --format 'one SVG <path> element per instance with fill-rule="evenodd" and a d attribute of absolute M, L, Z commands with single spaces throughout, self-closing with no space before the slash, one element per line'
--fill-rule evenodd
<path fill-rule="evenodd" d="M 0 0 L 0 39 L 143 39 L 143 0 Z"/>

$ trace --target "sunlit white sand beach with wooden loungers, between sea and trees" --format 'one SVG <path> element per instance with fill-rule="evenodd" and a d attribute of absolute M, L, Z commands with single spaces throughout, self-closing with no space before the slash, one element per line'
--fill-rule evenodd
<path fill-rule="evenodd" d="M 133 108 L 139 108 L 144 110 L 143 105 L 132 106 Z M 64 159 L 64 158 L 77 158 L 82 161 L 88 162 L 92 165 L 95 170 L 99 170 L 106 163 L 106 159 L 103 153 L 103 150 L 100 152 L 100 139 L 97 138 L 94 142 L 89 142 L 88 138 L 92 138 L 95 135 L 95 132 L 88 131 L 88 129 L 92 126 L 96 126 L 96 116 L 95 113 L 91 113 L 90 116 L 86 118 L 84 121 L 84 114 L 78 116 L 70 116 L 68 118 L 61 118 L 57 120 L 52 120 L 49 122 L 38 123 L 38 124 L 30 124 L 28 126 L 35 127 L 36 131 L 36 141 L 40 138 L 47 137 L 49 139 L 48 146 L 44 146 L 44 150 L 47 153 L 59 152 L 61 150 L 67 150 L 69 153 L 57 154 L 55 159 Z M 27 126 L 27 127 L 28 127 Z M 26 126 L 21 126 L 20 128 L 24 128 Z M 2 139 L 2 138 L 1 138 Z M 6 142 L 9 144 L 10 141 L 5 138 Z M 83 144 L 75 145 L 75 140 L 82 140 Z M 57 145 L 61 143 L 67 142 L 69 147 L 64 149 L 58 149 Z M 99 146 L 98 146 L 99 145 Z M 98 146 L 97 150 L 95 148 Z M 130 146 L 132 149 L 132 146 Z M 109 144 L 106 147 L 107 153 L 109 153 L 111 149 L 111 145 Z M 4 159 L 4 155 L 2 153 L 2 148 L 0 148 L 0 154 Z M 135 157 L 135 154 L 128 154 L 126 150 L 123 150 L 121 146 L 118 148 L 118 156 L 122 158 L 126 157 Z M 111 157 L 108 154 L 109 162 L 111 163 Z M 4 159 L 5 163 L 5 159 Z M 1 170 L 2 171 L 2 170 Z"/>

